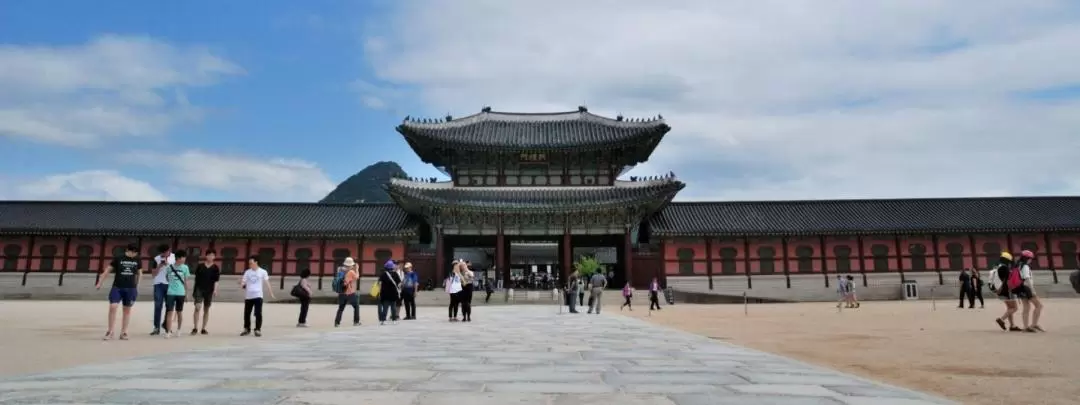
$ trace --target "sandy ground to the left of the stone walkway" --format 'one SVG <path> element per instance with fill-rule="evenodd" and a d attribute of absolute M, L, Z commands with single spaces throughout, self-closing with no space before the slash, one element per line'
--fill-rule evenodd
<path fill-rule="evenodd" d="M 206 336 L 187 336 L 191 332 L 191 307 L 185 311 L 184 336 L 165 340 L 149 336 L 152 307 L 137 303 L 132 313 L 131 340 L 103 341 L 108 303 L 92 301 L 0 301 L 0 376 L 48 372 L 82 364 L 116 361 L 193 348 L 207 348 L 251 341 L 240 337 L 243 329 L 242 302 L 214 302 Z M 308 313 L 311 327 L 297 328 L 299 306 L 268 303 L 262 308 L 265 337 L 303 330 L 332 329 L 337 306 L 312 305 Z M 362 306 L 361 321 L 376 322 L 376 307 Z M 424 308 L 420 309 L 423 314 Z M 347 308 L 345 324 L 352 327 L 352 309 Z M 120 314 L 117 315 L 117 332 Z"/>

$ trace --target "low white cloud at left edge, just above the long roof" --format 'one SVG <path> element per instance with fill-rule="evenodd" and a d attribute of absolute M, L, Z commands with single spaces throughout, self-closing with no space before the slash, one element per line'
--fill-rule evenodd
<path fill-rule="evenodd" d="M 152 185 L 113 171 L 82 171 L 37 179 L 0 179 L 5 200 L 165 201 Z"/>

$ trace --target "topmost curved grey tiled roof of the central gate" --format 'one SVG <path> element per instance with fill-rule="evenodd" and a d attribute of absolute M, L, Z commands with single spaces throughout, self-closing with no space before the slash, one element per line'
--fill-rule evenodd
<path fill-rule="evenodd" d="M 650 138 L 659 143 L 669 131 L 671 127 L 660 116 L 611 119 L 593 114 L 584 107 L 552 113 L 499 112 L 484 108 L 480 113 L 459 119 L 406 117 L 397 126 L 397 132 L 421 154 L 428 146 L 507 151 L 599 149 L 625 141 L 643 144 Z"/>

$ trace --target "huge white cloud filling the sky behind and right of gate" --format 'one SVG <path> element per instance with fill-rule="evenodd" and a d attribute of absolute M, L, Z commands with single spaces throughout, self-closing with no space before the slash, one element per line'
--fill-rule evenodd
<path fill-rule="evenodd" d="M 662 113 L 635 174 L 684 200 L 1080 193 L 1080 96 L 1025 96 L 1080 83 L 1075 1 L 396 4 L 364 43 L 400 99 Z"/>

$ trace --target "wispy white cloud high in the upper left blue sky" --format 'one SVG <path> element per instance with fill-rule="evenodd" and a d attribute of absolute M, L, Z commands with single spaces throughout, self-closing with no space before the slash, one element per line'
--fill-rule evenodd
<path fill-rule="evenodd" d="M 183 89 L 243 72 L 205 48 L 143 37 L 0 44 L 0 135 L 65 146 L 159 135 L 200 119 Z"/>

